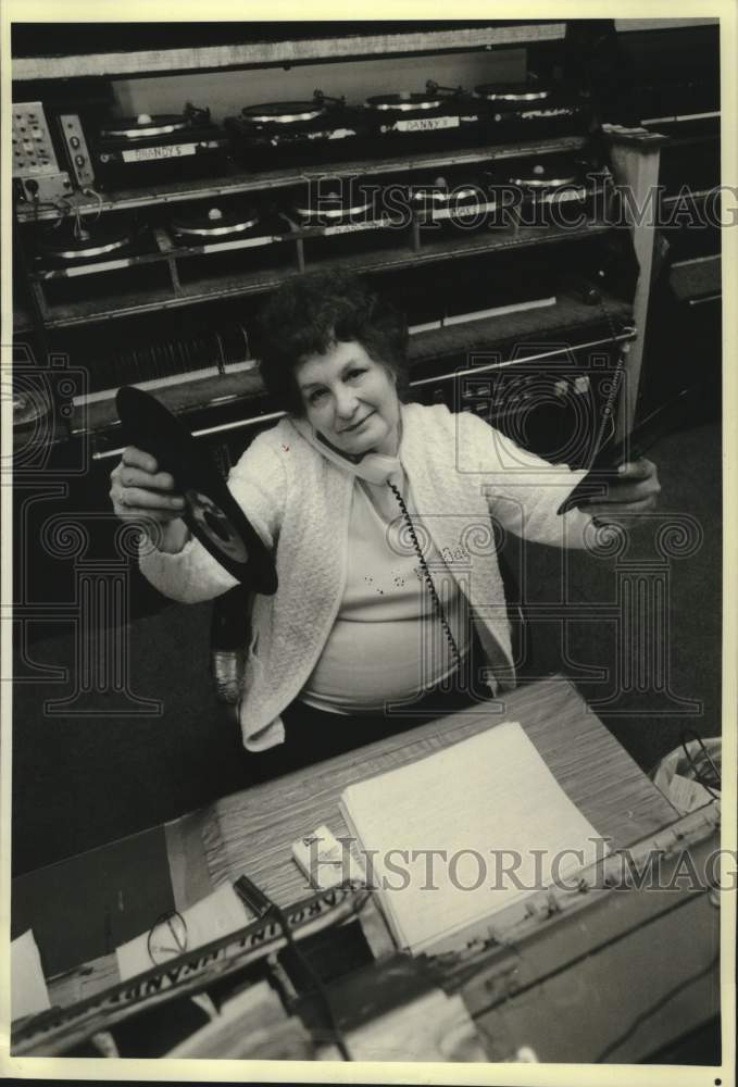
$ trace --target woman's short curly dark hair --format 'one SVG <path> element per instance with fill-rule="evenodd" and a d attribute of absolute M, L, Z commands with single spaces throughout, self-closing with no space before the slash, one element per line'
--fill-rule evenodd
<path fill-rule="evenodd" d="M 345 272 L 310 272 L 287 279 L 261 313 L 258 350 L 267 391 L 293 415 L 302 415 L 296 367 L 349 340 L 387 366 L 397 377 L 398 392 L 405 391 L 408 324 L 399 310 Z"/>

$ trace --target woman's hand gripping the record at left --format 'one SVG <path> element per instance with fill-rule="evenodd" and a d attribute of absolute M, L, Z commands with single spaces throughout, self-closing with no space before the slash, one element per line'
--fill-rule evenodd
<path fill-rule="evenodd" d="M 179 551 L 189 530 L 179 521 L 185 499 L 175 491 L 174 477 L 160 472 L 157 461 L 135 446 L 123 450 L 123 459 L 110 474 L 110 498 L 122 521 L 146 520 L 162 526 L 158 547 Z"/>

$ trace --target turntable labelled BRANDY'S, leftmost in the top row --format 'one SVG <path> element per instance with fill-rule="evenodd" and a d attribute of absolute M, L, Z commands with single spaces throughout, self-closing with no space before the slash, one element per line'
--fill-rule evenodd
<path fill-rule="evenodd" d="M 180 114 L 108 121 L 92 145 L 100 176 L 115 184 L 217 173 L 223 166 L 225 134 L 210 110 L 189 102 Z"/>

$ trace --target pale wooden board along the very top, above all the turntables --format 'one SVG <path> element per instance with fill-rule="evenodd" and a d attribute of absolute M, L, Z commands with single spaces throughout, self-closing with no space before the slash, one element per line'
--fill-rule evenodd
<path fill-rule="evenodd" d="M 285 24 L 287 27 L 289 23 Z M 68 79 L 90 76 L 147 76 L 157 73 L 201 72 L 218 68 L 300 64 L 321 60 L 387 57 L 399 53 L 431 53 L 486 49 L 495 46 L 558 41 L 564 37 L 563 22 L 518 23 L 487 27 L 399 34 L 355 34 L 335 38 L 284 41 L 251 41 L 240 45 L 186 49 L 142 49 L 129 52 L 83 53 L 63 57 L 26 57 L 13 63 L 15 80 Z M 287 32 L 288 33 L 288 32 Z"/>

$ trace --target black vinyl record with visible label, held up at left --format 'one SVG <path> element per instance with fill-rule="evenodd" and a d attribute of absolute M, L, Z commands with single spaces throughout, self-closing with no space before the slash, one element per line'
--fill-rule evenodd
<path fill-rule="evenodd" d="M 115 403 L 126 442 L 151 453 L 174 476 L 192 535 L 239 582 L 265 596 L 276 592 L 272 555 L 184 423 L 133 386 L 118 389 Z"/>

